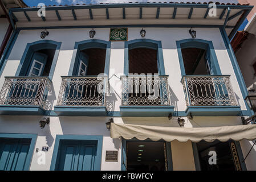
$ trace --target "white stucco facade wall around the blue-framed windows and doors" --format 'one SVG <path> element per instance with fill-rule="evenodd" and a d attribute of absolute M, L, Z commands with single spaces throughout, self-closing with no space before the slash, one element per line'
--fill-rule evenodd
<path fill-rule="evenodd" d="M 230 63 L 229 55 L 227 54 L 225 44 L 222 40 L 220 30 L 218 28 L 194 28 L 197 31 L 197 38 L 210 40 L 216 49 L 218 63 L 220 64 L 221 72 L 223 75 L 231 75 L 231 85 L 233 86 L 235 96 L 242 110 L 245 110 L 245 103 L 237 78 L 235 77 L 233 67 Z M 141 28 L 128 28 L 128 40 L 141 39 Z M 6 63 L 5 69 L 0 78 L 0 87 L 2 87 L 5 76 L 15 76 L 19 62 L 22 58 L 23 52 L 27 43 L 36 42 L 40 39 L 40 31 L 42 30 L 22 30 L 14 44 L 10 53 L 9 59 Z M 46 37 L 48 40 L 62 42 L 58 61 L 56 63 L 54 76 L 52 78 L 52 95 L 50 98 L 53 106 L 56 105 L 58 98 L 61 77 L 67 76 L 70 68 L 72 54 L 74 52 L 75 42 L 88 40 L 90 29 L 53 29 L 48 30 L 50 35 Z M 96 35 L 94 39 L 108 41 L 109 28 L 95 28 Z M 190 39 L 188 33 L 189 28 L 146 28 L 147 35 L 145 38 L 153 40 L 161 40 L 162 52 L 164 56 L 165 74 L 169 75 L 168 84 L 172 97 L 170 100 L 175 106 L 175 110 L 185 111 L 185 96 L 183 86 L 180 82 L 181 71 L 180 63 L 178 60 L 176 40 Z M 111 56 L 109 77 L 115 73 L 117 76 L 123 75 L 124 71 L 124 42 L 111 43 Z M 112 88 L 116 89 L 116 93 L 109 94 L 106 98 L 109 105 L 108 110 L 119 111 L 121 105 L 121 88 L 120 80 L 116 77 L 109 80 Z M 52 106 L 51 110 L 54 110 Z M 31 162 L 31 170 L 48 170 L 50 169 L 51 156 L 54 150 L 55 136 L 61 134 L 67 135 L 103 135 L 103 151 L 101 158 L 102 170 L 120 170 L 121 167 L 121 141 L 119 139 L 113 140 L 110 138 L 109 131 L 105 128 L 105 122 L 108 117 L 50 117 L 50 125 L 46 126 L 43 130 L 39 127 L 39 121 L 43 117 L 35 116 L 0 116 L 0 133 L 30 133 L 38 134 L 35 148 L 39 150 L 43 146 L 49 146 L 50 150 L 46 154 L 46 165 L 39 165 L 37 163 L 38 156 L 34 152 Z M 137 125 L 152 125 L 152 126 L 173 126 L 178 127 L 177 118 L 174 117 L 170 121 L 167 117 L 161 118 L 114 118 L 115 122 L 119 123 L 133 123 Z M 185 127 L 210 127 L 210 126 L 229 126 L 241 125 L 239 117 L 194 117 L 193 121 L 185 118 Z M 190 146 L 190 145 L 189 145 Z M 188 146 L 185 146 L 188 147 Z M 106 150 L 119 150 L 119 162 L 108 163 L 105 162 Z M 191 149 L 192 150 L 192 149 Z M 190 152 L 191 153 L 191 152 Z M 178 154 L 176 152 L 176 154 Z M 175 165 L 175 164 L 174 164 Z M 178 164 L 180 165 L 180 164 Z M 193 166 L 193 165 L 192 165 Z M 174 167 L 175 168 L 175 167 Z M 176 166 L 180 168 L 180 166 Z M 192 169 L 192 168 L 191 168 Z"/>

